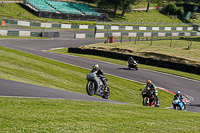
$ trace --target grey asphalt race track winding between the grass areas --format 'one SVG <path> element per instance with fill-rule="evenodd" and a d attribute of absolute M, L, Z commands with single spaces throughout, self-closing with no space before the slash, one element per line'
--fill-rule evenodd
<path fill-rule="evenodd" d="M 80 66 L 87 69 L 91 69 L 91 66 L 93 64 L 98 63 L 100 67 L 104 70 L 104 72 L 107 74 L 111 74 L 114 76 L 122 77 L 125 79 L 129 79 L 129 80 L 137 81 L 141 83 L 145 83 L 148 79 L 151 79 L 156 86 L 166 88 L 171 91 L 180 90 L 183 94 L 186 94 L 187 96 L 189 96 L 192 102 L 187 106 L 187 110 L 192 111 L 192 112 L 200 112 L 200 104 L 199 104 L 200 103 L 200 98 L 199 98 L 200 82 L 198 81 L 190 80 L 187 78 L 182 78 L 182 77 L 174 76 L 170 74 L 143 70 L 143 69 L 139 69 L 138 71 L 132 71 L 132 70 L 128 70 L 126 66 L 122 66 L 122 65 L 116 65 L 116 64 L 101 62 L 101 61 L 87 59 L 87 58 L 61 55 L 57 53 L 49 53 L 49 52 L 43 51 L 46 49 L 59 48 L 59 47 L 78 47 L 81 45 L 99 43 L 103 41 L 104 40 L 72 39 L 72 38 L 65 38 L 64 40 L 62 39 L 55 39 L 55 40 L 3 39 L 3 40 L 0 40 L 0 46 L 5 46 L 8 48 L 20 50 L 20 51 L 27 52 L 30 54 L 46 57 L 49 59 Z M 109 80 L 112 80 L 112 79 L 109 79 Z M 48 90 L 51 90 L 51 88 L 46 88 L 47 90 L 45 90 L 44 89 L 45 87 L 41 87 L 42 91 L 40 91 L 40 87 L 34 86 L 34 85 L 27 85 L 27 84 L 17 83 L 17 82 L 12 82 L 12 81 L 7 81 L 7 80 L 0 80 L 0 82 L 1 82 L 0 95 L 2 96 L 76 99 L 76 95 L 79 95 L 79 94 L 73 93 L 75 98 L 72 98 L 72 97 L 69 98 L 69 96 L 71 96 L 72 94 L 70 95 L 66 94 L 66 96 L 63 96 L 61 94 L 63 94 L 64 91 L 60 91 L 60 90 L 53 89 L 51 92 L 48 92 Z M 10 82 L 12 82 L 12 84 Z M 18 86 L 17 85 L 15 86 L 15 84 L 18 84 Z M 24 87 L 24 85 L 26 87 Z M 28 90 L 30 89 L 30 92 L 26 90 L 27 88 Z M 13 90 L 13 89 L 19 89 L 19 91 Z M 110 89 L 112 91 L 112 88 Z M 31 93 L 32 91 L 34 91 L 34 93 Z M 57 97 L 52 97 L 53 96 L 52 93 L 54 91 L 56 91 Z M 65 92 L 68 93 L 67 91 Z M 81 94 L 81 95 L 84 95 L 84 94 Z M 93 100 L 93 98 L 95 98 L 94 101 L 98 99 L 99 101 L 115 102 L 115 101 L 110 101 L 110 100 L 104 100 L 102 98 L 89 97 L 87 95 L 85 95 L 85 98 L 86 99 L 83 99 L 83 100 Z M 81 100 L 81 98 L 79 98 L 79 100 Z"/>

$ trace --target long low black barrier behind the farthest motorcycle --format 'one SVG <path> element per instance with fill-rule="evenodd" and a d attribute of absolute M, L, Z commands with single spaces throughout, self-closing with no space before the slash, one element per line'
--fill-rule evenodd
<path fill-rule="evenodd" d="M 164 68 L 169 68 L 169 69 L 174 69 L 174 70 L 179 70 L 183 72 L 189 72 L 189 73 L 200 75 L 200 66 L 198 65 L 188 65 L 188 64 L 176 63 L 176 62 L 170 62 L 170 61 L 162 61 L 162 60 L 156 60 L 152 58 L 144 58 L 144 57 L 139 57 L 139 56 L 134 56 L 134 55 L 121 54 L 121 53 L 102 51 L 102 50 L 96 50 L 96 49 L 68 48 L 68 52 L 97 55 L 97 56 L 120 59 L 120 60 L 125 60 L 125 61 L 128 59 L 128 57 L 132 56 L 134 59 L 139 61 L 140 64 L 164 67 Z"/>

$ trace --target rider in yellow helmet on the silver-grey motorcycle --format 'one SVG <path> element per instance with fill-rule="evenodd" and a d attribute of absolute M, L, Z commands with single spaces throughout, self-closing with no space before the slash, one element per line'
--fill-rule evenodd
<path fill-rule="evenodd" d="M 97 76 L 100 78 L 100 80 L 103 82 L 103 84 L 104 84 L 105 86 L 107 86 L 107 85 L 106 85 L 107 79 L 106 79 L 106 77 L 105 77 L 103 71 L 99 68 L 99 65 L 98 65 L 98 64 L 94 64 L 94 65 L 93 65 L 92 71 L 91 71 L 91 72 L 92 72 L 92 73 L 95 72 L 96 75 L 97 75 Z M 105 87 L 105 88 L 107 88 L 107 87 Z"/>

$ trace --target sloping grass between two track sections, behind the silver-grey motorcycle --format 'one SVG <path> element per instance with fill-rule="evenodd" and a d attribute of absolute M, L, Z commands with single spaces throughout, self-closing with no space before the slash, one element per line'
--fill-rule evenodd
<path fill-rule="evenodd" d="M 90 70 L 0 47 L 0 78 L 86 94 Z M 141 104 L 143 85 L 106 75 L 110 99 Z M 131 86 L 131 87 L 130 87 Z M 161 107 L 171 104 L 172 95 L 159 91 Z"/>

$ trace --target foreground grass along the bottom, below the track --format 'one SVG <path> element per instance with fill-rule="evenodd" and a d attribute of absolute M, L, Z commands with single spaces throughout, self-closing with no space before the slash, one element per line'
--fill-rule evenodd
<path fill-rule="evenodd" d="M 1 133 L 192 132 L 200 114 L 134 104 L 0 98 Z"/>

